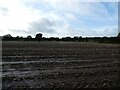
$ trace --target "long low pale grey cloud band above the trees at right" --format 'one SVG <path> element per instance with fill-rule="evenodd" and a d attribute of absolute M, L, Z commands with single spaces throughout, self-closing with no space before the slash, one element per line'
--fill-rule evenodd
<path fill-rule="evenodd" d="M 116 36 L 118 33 L 117 28 L 101 28 L 97 29 L 81 29 L 70 31 L 71 36 L 83 36 L 83 37 L 101 37 L 101 36 Z"/>

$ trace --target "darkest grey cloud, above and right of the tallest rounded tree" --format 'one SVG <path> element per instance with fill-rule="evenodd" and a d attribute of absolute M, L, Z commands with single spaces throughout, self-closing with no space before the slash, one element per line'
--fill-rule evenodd
<path fill-rule="evenodd" d="M 54 22 L 43 18 L 38 21 L 31 22 L 29 30 L 33 33 L 41 32 L 41 33 L 55 33 L 53 29 Z"/>

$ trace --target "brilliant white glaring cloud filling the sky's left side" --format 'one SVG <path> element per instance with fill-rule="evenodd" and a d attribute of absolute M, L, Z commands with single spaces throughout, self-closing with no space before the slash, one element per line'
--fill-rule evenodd
<path fill-rule="evenodd" d="M 29 22 L 41 18 L 41 16 L 38 14 L 40 12 L 37 10 L 31 11 L 27 7 L 23 6 L 21 2 L 16 0 L 7 1 L 0 1 L 0 6 L 3 6 L 9 10 L 7 16 L 0 13 L 0 29 L 4 31 L 2 35 L 8 33 L 11 33 L 13 36 L 19 34 L 24 35 L 25 32 L 22 33 L 21 30 L 29 31 Z M 11 31 L 11 29 L 13 29 L 14 32 L 17 30 L 18 33 L 14 33 Z"/>

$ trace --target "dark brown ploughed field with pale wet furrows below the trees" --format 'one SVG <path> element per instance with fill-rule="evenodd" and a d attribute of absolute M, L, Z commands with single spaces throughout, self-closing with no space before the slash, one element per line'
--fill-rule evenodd
<path fill-rule="evenodd" d="M 117 44 L 4 41 L 2 87 L 119 87 L 119 50 Z"/>

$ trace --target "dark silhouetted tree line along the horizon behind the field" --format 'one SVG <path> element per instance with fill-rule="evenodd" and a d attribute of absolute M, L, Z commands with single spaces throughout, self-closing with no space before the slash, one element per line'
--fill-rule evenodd
<path fill-rule="evenodd" d="M 12 37 L 10 34 L 2 36 L 3 41 L 74 41 L 74 42 L 98 42 L 98 43 L 120 43 L 120 33 L 116 37 L 42 37 L 41 33 L 36 34 L 35 38 L 28 35 L 27 37 L 17 36 Z"/>

